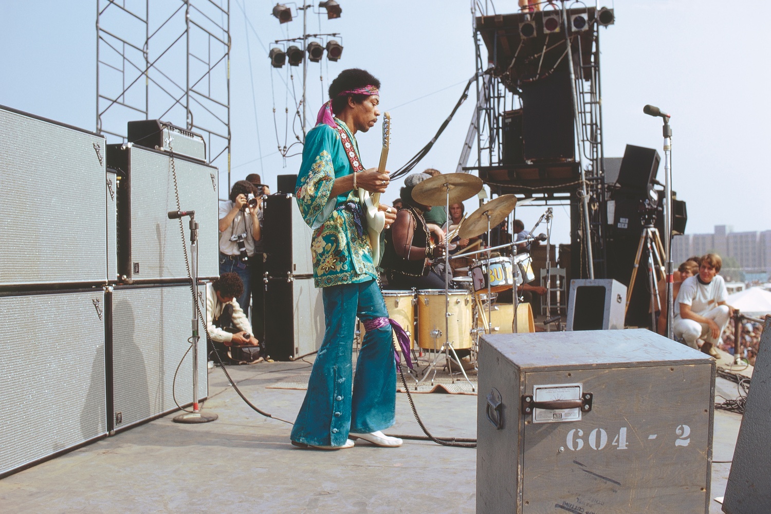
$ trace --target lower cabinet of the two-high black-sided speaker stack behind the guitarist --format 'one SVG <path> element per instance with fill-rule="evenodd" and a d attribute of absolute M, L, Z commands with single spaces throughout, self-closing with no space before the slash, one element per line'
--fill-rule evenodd
<path fill-rule="evenodd" d="M 321 347 L 324 304 L 312 277 L 268 278 L 265 298 L 265 351 L 271 358 L 289 361 Z"/>

